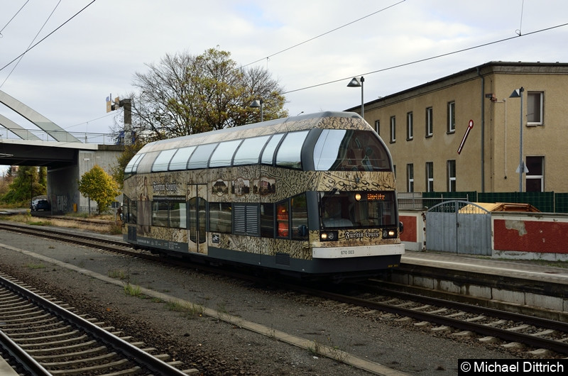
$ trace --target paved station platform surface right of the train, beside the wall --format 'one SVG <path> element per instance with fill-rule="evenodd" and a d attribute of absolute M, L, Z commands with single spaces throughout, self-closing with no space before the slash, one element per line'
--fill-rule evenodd
<path fill-rule="evenodd" d="M 567 284 L 567 267 L 547 266 L 545 260 L 503 260 L 455 253 L 406 251 L 400 260 L 403 265 L 435 267 L 459 272 L 475 272 L 496 277 L 512 277 L 535 282 Z M 549 262 L 552 264 L 552 262 Z M 558 264 L 559 262 L 555 262 Z M 403 266 L 401 265 L 401 266 Z"/>

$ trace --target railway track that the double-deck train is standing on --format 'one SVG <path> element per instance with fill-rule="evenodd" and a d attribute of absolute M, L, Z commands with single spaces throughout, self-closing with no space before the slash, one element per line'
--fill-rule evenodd
<path fill-rule="evenodd" d="M 0 223 L 0 228 L 4 228 Z M 26 229 L 18 226 L 11 231 L 26 231 L 35 236 L 50 236 L 51 229 Z M 57 240 L 65 240 L 68 233 L 58 232 L 53 236 Z M 51 237 L 51 236 L 50 236 Z M 96 239 L 81 236 L 84 245 L 103 248 L 95 243 Z M 72 237 L 76 242 L 75 236 Z M 122 242 L 110 242 L 109 250 L 119 250 L 140 257 L 143 253 L 135 250 L 125 250 Z M 155 255 L 148 253 L 148 258 L 155 259 Z M 179 260 L 178 260 L 179 262 Z M 208 271 L 212 268 L 204 267 Z M 235 275 L 244 280 L 258 282 L 256 277 L 250 275 Z M 266 281 L 265 281 L 266 282 Z M 444 332 L 449 336 L 477 337 L 479 341 L 488 343 L 501 342 L 508 348 L 524 348 L 530 356 L 566 356 L 568 354 L 568 324 L 562 321 L 541 319 L 511 311 L 491 309 L 484 306 L 464 304 L 447 299 L 425 297 L 418 294 L 409 294 L 400 291 L 384 289 L 378 284 L 383 282 L 368 281 L 365 284 L 343 284 L 341 291 L 332 291 L 319 288 L 306 287 L 300 284 L 282 284 L 280 287 L 294 290 L 310 296 L 332 299 L 341 304 L 351 304 L 354 310 L 359 309 L 365 314 L 388 316 L 396 320 L 414 320 L 414 325 L 421 328 L 430 328 L 432 331 Z M 552 353 L 551 353 L 552 352 Z"/>

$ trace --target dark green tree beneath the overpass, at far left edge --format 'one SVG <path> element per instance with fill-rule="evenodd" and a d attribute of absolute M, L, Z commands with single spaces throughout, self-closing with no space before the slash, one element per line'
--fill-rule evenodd
<path fill-rule="evenodd" d="M 34 196 L 45 194 L 45 183 L 39 182 L 38 167 L 20 166 L 18 175 L 9 185 L 9 191 L 4 194 L 2 201 L 10 204 L 26 204 Z"/>

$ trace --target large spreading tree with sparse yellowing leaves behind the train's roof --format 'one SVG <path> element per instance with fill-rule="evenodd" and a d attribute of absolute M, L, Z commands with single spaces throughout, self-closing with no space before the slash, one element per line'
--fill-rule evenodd
<path fill-rule="evenodd" d="M 149 72 L 136 73 L 132 96 L 133 130 L 160 140 L 260 120 L 254 99 L 263 99 L 266 120 L 288 116 L 283 89 L 260 67 L 239 67 L 217 48 L 194 56 L 165 55 Z"/>

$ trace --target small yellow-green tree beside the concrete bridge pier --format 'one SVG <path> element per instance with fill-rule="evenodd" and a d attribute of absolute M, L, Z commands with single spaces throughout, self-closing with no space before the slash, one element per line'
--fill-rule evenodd
<path fill-rule="evenodd" d="M 79 181 L 79 192 L 97 202 L 99 214 L 109 209 L 114 198 L 120 194 L 118 184 L 99 165 L 85 172 Z"/>

